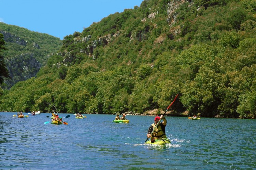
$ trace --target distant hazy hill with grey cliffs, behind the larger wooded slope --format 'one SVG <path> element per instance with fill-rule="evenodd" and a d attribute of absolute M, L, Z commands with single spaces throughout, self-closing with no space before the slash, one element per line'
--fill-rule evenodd
<path fill-rule="evenodd" d="M 0 22 L 0 33 L 4 36 L 7 48 L 3 56 L 10 76 L 2 84 L 4 89 L 34 77 L 46 65 L 49 56 L 62 45 L 62 41 L 54 36 L 3 22 Z"/>

